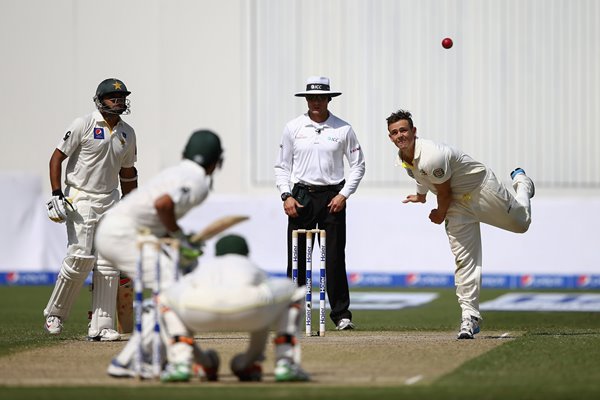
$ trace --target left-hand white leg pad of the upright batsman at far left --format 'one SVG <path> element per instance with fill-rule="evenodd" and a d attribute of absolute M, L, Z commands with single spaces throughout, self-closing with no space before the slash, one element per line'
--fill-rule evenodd
<path fill-rule="evenodd" d="M 67 320 L 83 282 L 94 268 L 95 262 L 96 257 L 91 255 L 68 255 L 65 257 L 48 305 L 44 309 L 45 317 L 56 315 L 63 321 Z"/>

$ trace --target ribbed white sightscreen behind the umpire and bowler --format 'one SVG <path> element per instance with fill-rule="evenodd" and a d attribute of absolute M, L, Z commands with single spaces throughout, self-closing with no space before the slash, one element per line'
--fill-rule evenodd
<path fill-rule="evenodd" d="M 359 135 L 365 186 L 407 180 L 385 124 L 406 108 L 421 136 L 503 179 L 522 166 L 539 186 L 599 187 L 599 20 L 594 0 L 253 1 L 252 183 L 273 184 L 283 126 L 306 109 L 293 93 L 323 74 L 343 92 L 330 110 Z"/>

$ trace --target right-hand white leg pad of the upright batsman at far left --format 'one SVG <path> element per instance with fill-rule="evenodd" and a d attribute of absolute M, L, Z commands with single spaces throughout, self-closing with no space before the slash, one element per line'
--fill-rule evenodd
<path fill-rule="evenodd" d="M 92 320 L 88 336 L 96 337 L 102 329 L 115 327 L 119 271 L 100 258 L 93 271 L 92 282 Z"/>

